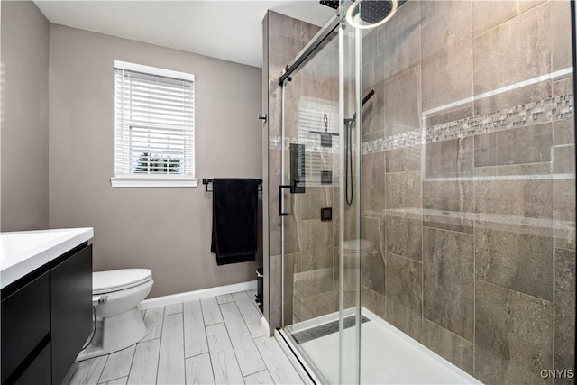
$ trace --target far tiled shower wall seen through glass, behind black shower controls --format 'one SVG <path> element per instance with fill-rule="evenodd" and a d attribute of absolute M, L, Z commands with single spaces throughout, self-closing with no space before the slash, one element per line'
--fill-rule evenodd
<path fill-rule="evenodd" d="M 338 309 L 338 149 L 341 140 L 333 136 L 331 147 L 322 147 L 324 114 L 327 129 L 338 133 L 338 39 L 328 38 L 315 56 L 295 72 L 285 87 L 285 159 L 289 143 L 306 146 L 307 183 L 303 194 L 288 194 L 285 207 L 285 324 L 290 325 L 333 313 Z M 315 167 L 311 167 L 311 166 Z M 333 182 L 320 183 L 320 170 L 330 171 Z M 289 165 L 285 167 L 289 183 Z M 333 220 L 321 220 L 321 208 L 333 208 Z M 336 279 L 336 280 L 335 280 Z"/>

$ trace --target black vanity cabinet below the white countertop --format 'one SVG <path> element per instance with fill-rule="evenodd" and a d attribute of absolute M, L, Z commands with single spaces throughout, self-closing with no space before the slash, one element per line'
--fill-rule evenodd
<path fill-rule="evenodd" d="M 92 245 L 0 293 L 2 384 L 60 384 L 92 331 Z"/>

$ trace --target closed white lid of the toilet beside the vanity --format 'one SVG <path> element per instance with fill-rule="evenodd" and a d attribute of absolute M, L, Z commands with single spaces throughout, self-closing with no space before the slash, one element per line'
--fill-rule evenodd
<path fill-rule="evenodd" d="M 148 269 L 121 269 L 96 271 L 92 273 L 93 294 L 104 294 L 112 291 L 133 288 L 152 278 Z"/>

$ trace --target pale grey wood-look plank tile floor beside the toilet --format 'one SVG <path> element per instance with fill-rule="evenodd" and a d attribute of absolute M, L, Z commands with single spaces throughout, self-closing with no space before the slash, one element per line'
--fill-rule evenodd
<path fill-rule="evenodd" d="M 256 290 L 151 308 L 148 335 L 74 362 L 64 384 L 302 384 L 261 325 Z"/>

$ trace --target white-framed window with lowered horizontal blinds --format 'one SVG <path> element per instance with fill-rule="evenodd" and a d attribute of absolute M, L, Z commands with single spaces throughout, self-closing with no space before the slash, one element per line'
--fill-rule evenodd
<path fill-rule="evenodd" d="M 196 187 L 194 75 L 114 60 L 113 187 Z"/>

